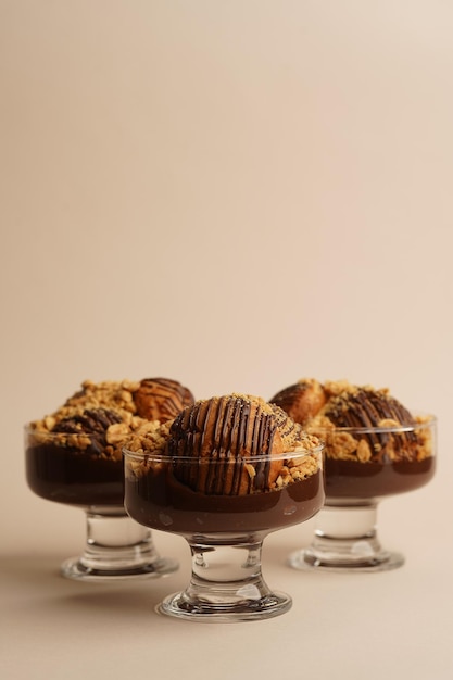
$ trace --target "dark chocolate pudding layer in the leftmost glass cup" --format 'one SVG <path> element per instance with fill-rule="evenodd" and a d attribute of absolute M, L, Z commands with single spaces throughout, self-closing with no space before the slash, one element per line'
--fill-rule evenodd
<path fill-rule="evenodd" d="M 38 444 L 25 452 L 28 487 L 37 495 L 72 505 L 123 506 L 123 462 L 79 449 Z"/>

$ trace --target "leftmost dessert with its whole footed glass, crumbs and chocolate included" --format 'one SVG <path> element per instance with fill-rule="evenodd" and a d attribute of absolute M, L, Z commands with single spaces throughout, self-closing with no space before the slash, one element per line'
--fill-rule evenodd
<path fill-rule="evenodd" d="M 175 559 L 159 555 L 151 530 L 124 508 L 122 448 L 131 432 L 158 429 L 193 401 L 187 388 L 166 378 L 87 380 L 52 415 L 25 427 L 28 487 L 42 499 L 86 513 L 85 550 L 61 565 L 63 576 L 110 581 L 177 569 Z"/>

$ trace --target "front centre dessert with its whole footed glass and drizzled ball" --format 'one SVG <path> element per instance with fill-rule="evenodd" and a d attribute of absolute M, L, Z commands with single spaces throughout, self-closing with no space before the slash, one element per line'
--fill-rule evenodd
<path fill-rule="evenodd" d="M 184 537 L 191 578 L 158 612 L 186 620 L 241 621 L 287 612 L 269 589 L 262 544 L 324 503 L 323 444 L 256 396 L 200 400 L 125 457 L 125 506 L 138 522 Z"/>

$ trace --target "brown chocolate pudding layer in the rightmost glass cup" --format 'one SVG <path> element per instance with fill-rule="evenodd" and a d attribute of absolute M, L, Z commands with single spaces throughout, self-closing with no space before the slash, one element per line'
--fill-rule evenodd
<path fill-rule="evenodd" d="M 435 457 L 360 463 L 326 456 L 327 499 L 374 499 L 418 489 L 432 478 Z"/>

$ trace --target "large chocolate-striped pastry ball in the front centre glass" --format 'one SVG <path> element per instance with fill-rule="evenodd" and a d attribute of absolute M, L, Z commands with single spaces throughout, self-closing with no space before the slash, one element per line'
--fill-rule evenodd
<path fill-rule="evenodd" d="M 265 490 L 269 461 L 255 462 L 254 475 L 248 475 L 244 466 L 272 452 L 278 424 L 274 411 L 266 413 L 260 403 L 240 395 L 197 402 L 171 427 L 168 454 L 175 457 L 175 477 L 206 494 L 237 495 L 243 492 L 244 480 L 246 492 Z"/>

